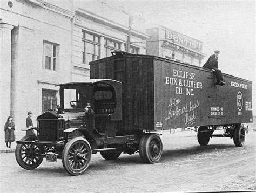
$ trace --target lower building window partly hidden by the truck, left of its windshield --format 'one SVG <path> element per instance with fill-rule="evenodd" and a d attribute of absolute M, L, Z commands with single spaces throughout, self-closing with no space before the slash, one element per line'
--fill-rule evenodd
<path fill-rule="evenodd" d="M 42 89 L 42 113 L 57 107 L 57 91 Z"/>

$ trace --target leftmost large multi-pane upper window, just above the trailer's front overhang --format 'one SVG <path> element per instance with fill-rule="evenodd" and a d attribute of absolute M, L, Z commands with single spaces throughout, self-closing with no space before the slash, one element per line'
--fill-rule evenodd
<path fill-rule="evenodd" d="M 90 61 L 98 60 L 100 58 L 100 37 L 83 31 L 82 42 L 82 63 L 89 64 Z"/>

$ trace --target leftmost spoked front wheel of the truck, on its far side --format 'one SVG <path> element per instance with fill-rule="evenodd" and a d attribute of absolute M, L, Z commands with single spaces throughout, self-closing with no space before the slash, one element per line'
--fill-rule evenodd
<path fill-rule="evenodd" d="M 37 137 L 28 135 L 22 137 L 20 141 L 36 141 Z M 33 144 L 17 144 L 15 149 L 15 158 L 19 166 L 26 170 L 37 168 L 43 161 L 43 157 L 39 157 L 39 148 Z"/>

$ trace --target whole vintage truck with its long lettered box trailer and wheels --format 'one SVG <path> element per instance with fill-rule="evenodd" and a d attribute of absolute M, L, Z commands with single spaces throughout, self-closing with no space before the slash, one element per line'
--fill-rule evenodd
<path fill-rule="evenodd" d="M 88 168 L 91 155 L 106 160 L 139 152 L 156 163 L 163 152 L 159 130 L 197 128 L 198 142 L 230 137 L 245 142 L 252 122 L 252 82 L 224 74 L 215 84 L 211 70 L 155 56 L 113 52 L 90 63 L 90 80 L 59 84 L 58 113 L 38 116 L 31 134 L 17 141 L 15 156 L 27 170 L 43 158 L 62 159 L 70 175 Z M 217 128 L 225 133 L 214 134 Z"/>

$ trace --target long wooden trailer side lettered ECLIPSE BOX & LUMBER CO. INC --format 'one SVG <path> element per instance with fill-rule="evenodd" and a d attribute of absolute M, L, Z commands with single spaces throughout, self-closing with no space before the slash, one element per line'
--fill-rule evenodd
<path fill-rule="evenodd" d="M 158 59 L 154 64 L 155 128 L 252 122 L 252 82 L 211 70 Z"/>

